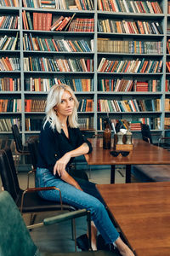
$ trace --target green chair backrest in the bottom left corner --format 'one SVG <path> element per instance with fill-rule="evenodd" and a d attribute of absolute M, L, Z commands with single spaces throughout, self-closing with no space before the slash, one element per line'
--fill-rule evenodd
<path fill-rule="evenodd" d="M 0 216 L 0 255 L 35 255 L 37 247 L 31 240 L 18 207 L 7 191 L 0 193 Z"/>

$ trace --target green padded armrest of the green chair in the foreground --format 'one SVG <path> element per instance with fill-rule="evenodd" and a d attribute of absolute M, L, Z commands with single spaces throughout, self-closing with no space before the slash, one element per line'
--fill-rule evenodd
<path fill-rule="evenodd" d="M 68 219 L 79 218 L 79 217 L 82 217 L 85 215 L 87 215 L 86 209 L 77 210 L 74 212 L 66 212 L 66 213 L 56 215 L 54 217 L 44 218 L 43 224 L 44 225 L 56 224 L 56 223 L 59 223 L 59 222 L 62 222 L 62 221 L 68 220 Z"/>

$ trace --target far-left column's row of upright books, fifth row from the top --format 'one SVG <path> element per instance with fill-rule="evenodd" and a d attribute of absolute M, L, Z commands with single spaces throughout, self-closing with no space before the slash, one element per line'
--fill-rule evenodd
<path fill-rule="evenodd" d="M 1 90 L 10 90 L 10 91 L 20 91 L 21 84 L 20 78 L 0 78 L 0 91 Z"/>

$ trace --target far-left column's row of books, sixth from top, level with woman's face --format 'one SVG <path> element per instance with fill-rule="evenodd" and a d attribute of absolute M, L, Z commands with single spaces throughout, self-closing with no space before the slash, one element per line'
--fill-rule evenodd
<path fill-rule="evenodd" d="M 0 112 L 21 112 L 20 99 L 0 100 Z"/>

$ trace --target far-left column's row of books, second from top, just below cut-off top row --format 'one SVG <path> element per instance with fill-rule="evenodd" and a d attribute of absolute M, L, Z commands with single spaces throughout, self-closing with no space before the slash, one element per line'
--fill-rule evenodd
<path fill-rule="evenodd" d="M 0 28 L 1 29 L 20 29 L 19 16 L 7 15 L 0 16 Z"/>

